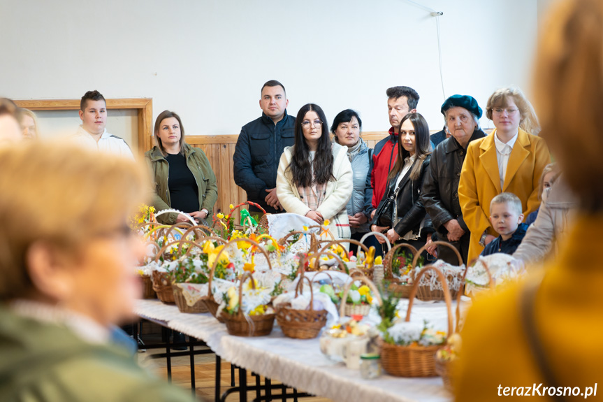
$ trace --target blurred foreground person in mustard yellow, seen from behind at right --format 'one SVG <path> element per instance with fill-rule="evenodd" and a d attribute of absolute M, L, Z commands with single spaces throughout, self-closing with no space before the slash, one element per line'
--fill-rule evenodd
<path fill-rule="evenodd" d="M 589 393 L 588 399 L 601 398 L 602 389 L 593 398 L 593 387 L 601 382 L 603 359 L 603 263 L 593 252 L 603 243 L 603 2 L 560 2 L 543 28 L 535 103 L 542 135 L 579 211 L 558 257 L 540 275 L 470 309 L 461 333 L 457 401 L 491 401 L 511 390 L 539 396 L 544 387 L 557 401 Z"/>

